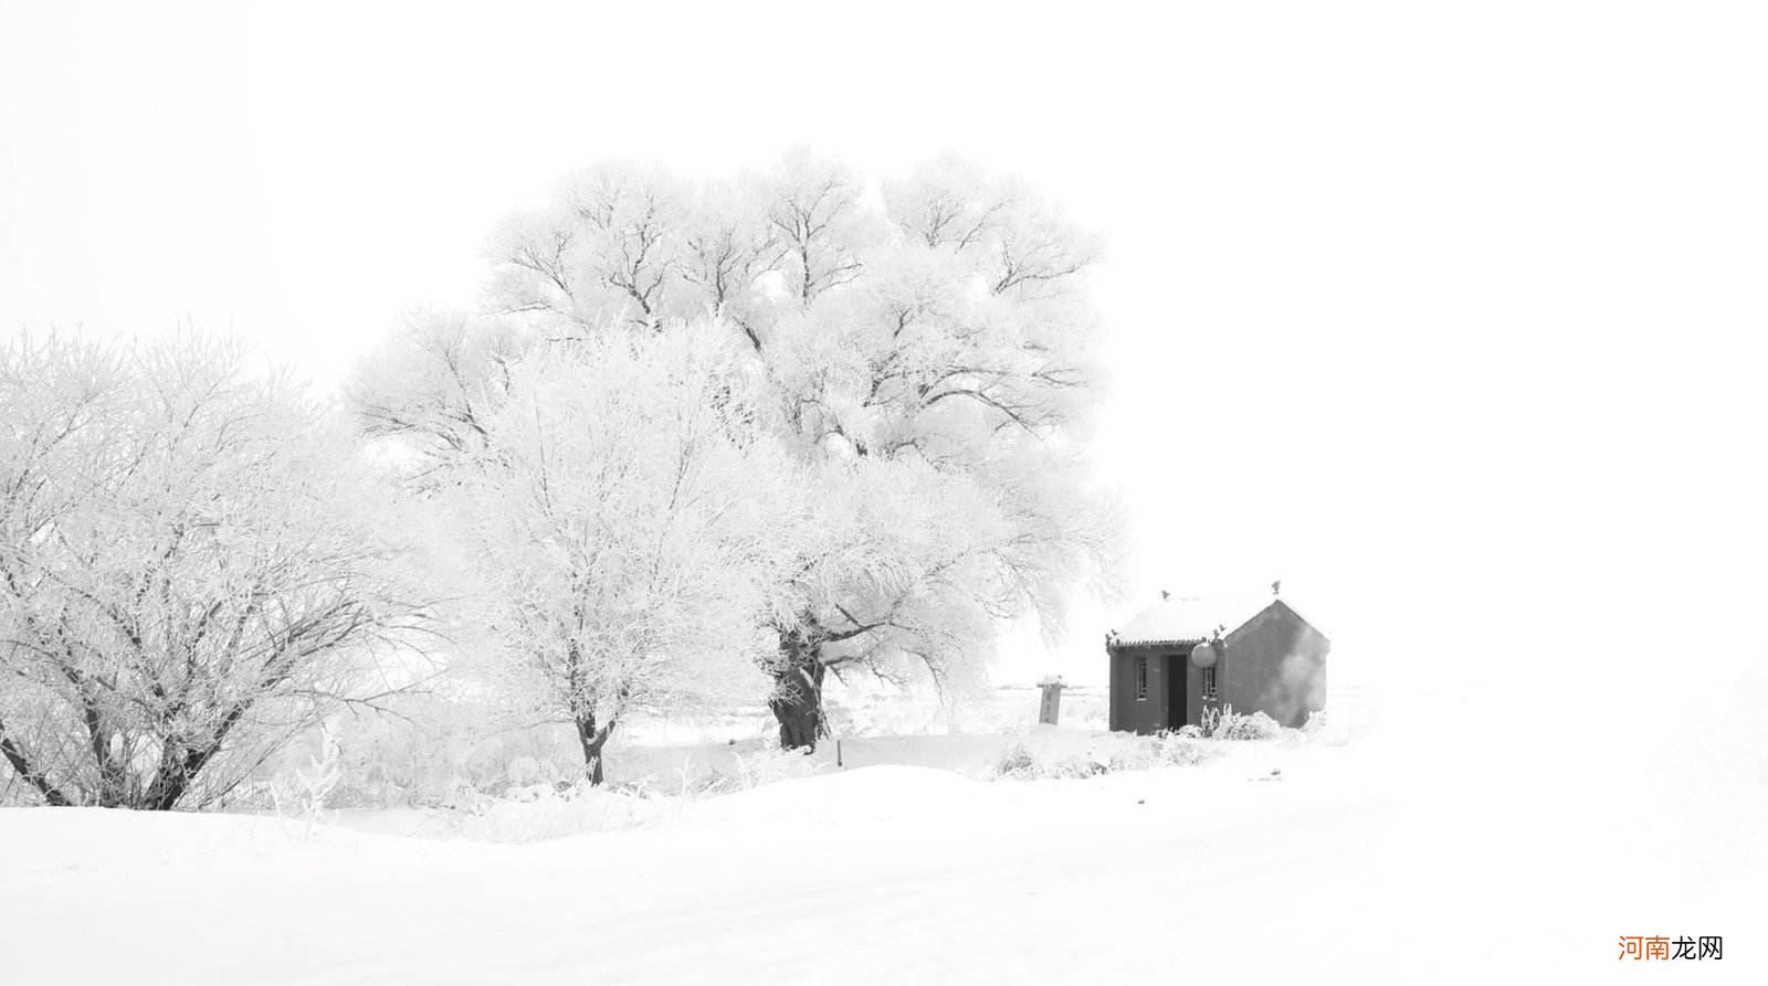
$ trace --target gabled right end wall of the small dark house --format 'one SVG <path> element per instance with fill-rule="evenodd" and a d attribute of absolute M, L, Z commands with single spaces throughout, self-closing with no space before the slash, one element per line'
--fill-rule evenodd
<path fill-rule="evenodd" d="M 1326 707 L 1331 643 L 1278 601 L 1222 641 L 1216 691 L 1234 712 L 1261 710 L 1299 728 Z"/>

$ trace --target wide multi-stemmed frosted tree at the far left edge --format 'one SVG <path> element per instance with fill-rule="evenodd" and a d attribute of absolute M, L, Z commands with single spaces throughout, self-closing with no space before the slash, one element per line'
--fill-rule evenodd
<path fill-rule="evenodd" d="M 0 756 L 205 804 L 415 626 L 348 435 L 233 343 L 0 346 Z"/>

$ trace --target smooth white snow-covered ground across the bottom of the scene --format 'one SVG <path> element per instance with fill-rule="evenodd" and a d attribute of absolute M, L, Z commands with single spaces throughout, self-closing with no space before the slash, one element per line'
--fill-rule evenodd
<path fill-rule="evenodd" d="M 1588 982 L 1637 975 L 1616 938 L 1658 933 L 1726 935 L 1685 975 L 1761 981 L 1759 832 L 1718 816 L 1759 799 L 1628 816 L 1651 800 L 1506 790 L 1501 763 L 1379 732 L 1206 746 L 1087 779 L 879 765 L 596 792 L 552 816 L 580 834 L 520 843 L 387 834 L 412 811 L 5 809 L 0 981 Z M 1685 808 L 1701 846 L 1678 843 Z"/>

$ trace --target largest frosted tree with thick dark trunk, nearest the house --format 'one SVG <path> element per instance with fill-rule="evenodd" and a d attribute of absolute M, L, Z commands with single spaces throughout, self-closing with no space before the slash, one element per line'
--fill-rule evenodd
<path fill-rule="evenodd" d="M 824 732 L 826 671 L 972 671 L 1004 620 L 1059 626 L 1114 557 L 1114 509 L 1084 468 L 1098 242 L 958 159 L 880 191 L 806 152 L 707 186 L 598 168 L 506 224 L 477 316 L 550 345 L 610 325 L 721 325 L 746 345 L 757 421 L 801 463 L 820 530 L 797 542 L 764 661 L 794 747 Z M 435 422 L 431 449 L 476 413 L 442 385 L 371 401 L 414 398 L 428 410 L 403 419 Z"/>

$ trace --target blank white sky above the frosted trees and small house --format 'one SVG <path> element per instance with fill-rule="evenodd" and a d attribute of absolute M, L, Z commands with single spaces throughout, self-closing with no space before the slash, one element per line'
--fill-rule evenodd
<path fill-rule="evenodd" d="M 1768 650 L 1749 5 L 147 7 L 0 0 L 7 330 L 191 318 L 329 385 L 599 157 L 951 148 L 1112 244 L 1130 599 L 1006 677 L 1273 578 L 1335 668 L 1444 687 Z"/>

